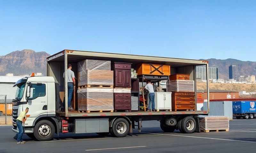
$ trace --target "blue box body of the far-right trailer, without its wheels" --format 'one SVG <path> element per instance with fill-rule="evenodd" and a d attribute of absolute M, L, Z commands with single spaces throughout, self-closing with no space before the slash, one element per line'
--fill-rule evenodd
<path fill-rule="evenodd" d="M 233 101 L 233 113 L 256 113 L 256 101 Z"/>

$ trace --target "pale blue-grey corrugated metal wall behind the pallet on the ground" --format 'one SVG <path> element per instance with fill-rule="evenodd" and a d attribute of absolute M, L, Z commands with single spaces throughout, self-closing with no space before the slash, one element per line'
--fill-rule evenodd
<path fill-rule="evenodd" d="M 204 110 L 207 110 L 207 102 L 204 102 Z M 233 119 L 232 101 L 211 101 L 210 113 L 211 116 L 228 116 L 229 120 Z"/>

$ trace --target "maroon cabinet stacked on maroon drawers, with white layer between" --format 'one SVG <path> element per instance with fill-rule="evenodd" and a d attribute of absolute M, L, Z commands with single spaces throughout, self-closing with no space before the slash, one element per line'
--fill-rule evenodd
<path fill-rule="evenodd" d="M 131 111 L 131 63 L 114 62 L 114 109 Z"/>

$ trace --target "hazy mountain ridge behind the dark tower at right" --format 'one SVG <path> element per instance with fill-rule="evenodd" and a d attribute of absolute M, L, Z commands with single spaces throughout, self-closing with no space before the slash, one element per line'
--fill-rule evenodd
<path fill-rule="evenodd" d="M 226 60 L 211 58 L 207 60 L 209 61 L 209 67 L 218 68 L 219 79 L 228 79 L 228 66 L 230 65 L 236 65 L 236 79 L 242 75 L 256 75 L 256 62 L 240 61 L 231 58 Z"/>

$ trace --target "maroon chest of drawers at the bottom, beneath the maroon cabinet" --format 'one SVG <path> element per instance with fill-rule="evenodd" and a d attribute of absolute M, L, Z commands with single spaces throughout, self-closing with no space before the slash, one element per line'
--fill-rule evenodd
<path fill-rule="evenodd" d="M 117 110 L 128 110 L 131 112 L 131 93 L 114 93 L 114 109 Z"/>

